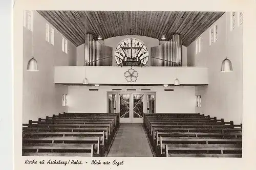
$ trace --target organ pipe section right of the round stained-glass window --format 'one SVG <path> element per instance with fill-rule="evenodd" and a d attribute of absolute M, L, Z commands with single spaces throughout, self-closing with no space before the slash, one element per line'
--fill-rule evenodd
<path fill-rule="evenodd" d="M 181 66 L 181 35 L 172 40 L 151 47 L 151 66 Z"/>

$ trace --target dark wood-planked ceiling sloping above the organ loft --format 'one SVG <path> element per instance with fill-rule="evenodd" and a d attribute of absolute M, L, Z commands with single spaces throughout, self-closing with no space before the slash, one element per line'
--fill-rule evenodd
<path fill-rule="evenodd" d="M 174 11 L 38 11 L 74 45 L 84 43 L 84 34 L 97 40 L 120 35 L 142 35 L 161 40 L 165 35 L 181 34 L 182 44 L 188 46 L 224 12 Z M 177 16 L 178 13 L 178 16 Z M 176 16 L 178 22 L 176 22 Z"/>

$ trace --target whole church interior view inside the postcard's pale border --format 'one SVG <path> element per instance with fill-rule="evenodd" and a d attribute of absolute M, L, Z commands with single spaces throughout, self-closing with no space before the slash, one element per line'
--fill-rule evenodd
<path fill-rule="evenodd" d="M 242 157 L 243 12 L 23 18 L 23 156 Z"/>

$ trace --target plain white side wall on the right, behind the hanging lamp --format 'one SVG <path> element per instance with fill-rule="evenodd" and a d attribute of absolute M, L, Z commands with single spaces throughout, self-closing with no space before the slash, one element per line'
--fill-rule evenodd
<path fill-rule="evenodd" d="M 238 14 L 238 13 L 236 13 Z M 201 95 L 201 108 L 197 112 L 232 120 L 235 124 L 242 123 L 242 61 L 243 61 L 243 26 L 230 31 L 230 13 L 227 15 L 226 43 L 226 14 L 215 23 L 218 24 L 218 40 L 209 45 L 209 29 L 202 37 L 202 52 L 196 55 L 196 42 L 187 47 L 187 62 L 190 66 L 208 67 L 209 85 L 198 86 L 196 94 Z M 226 45 L 228 44 L 228 45 Z M 221 63 L 227 57 L 232 61 L 232 72 L 220 72 Z"/>

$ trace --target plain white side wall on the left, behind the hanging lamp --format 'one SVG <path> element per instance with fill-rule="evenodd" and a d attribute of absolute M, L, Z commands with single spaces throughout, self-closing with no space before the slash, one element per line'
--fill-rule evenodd
<path fill-rule="evenodd" d="M 54 29 L 54 45 L 45 40 L 46 20 L 34 11 L 34 58 L 39 71 L 27 71 L 32 56 L 32 32 L 24 27 L 23 39 L 23 123 L 66 111 L 62 94 L 68 86 L 54 84 L 54 65 L 76 65 L 76 47 L 68 41 L 68 54 L 61 50 L 61 34 Z M 50 25 L 51 26 L 51 25 Z"/>

